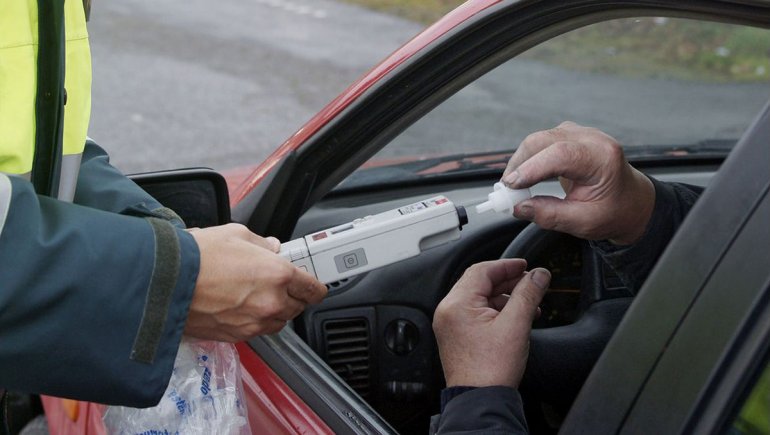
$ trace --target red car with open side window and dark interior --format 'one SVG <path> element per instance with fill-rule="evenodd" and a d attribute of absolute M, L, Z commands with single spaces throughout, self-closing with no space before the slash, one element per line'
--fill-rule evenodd
<path fill-rule="evenodd" d="M 522 384 L 533 433 L 742 433 L 770 343 L 767 113 L 750 128 L 768 27 L 760 0 L 472 0 L 227 173 L 232 220 L 281 240 L 436 194 L 470 210 L 515 144 L 566 119 L 657 178 L 708 186 L 635 298 L 585 242 L 473 213 L 460 240 L 331 284 L 292 327 L 238 344 L 254 432 L 425 433 L 443 382 L 433 310 L 467 266 L 506 255 L 553 273 Z M 144 182 L 190 181 L 165 177 Z M 43 404 L 53 434 L 104 432 L 102 405 Z"/>

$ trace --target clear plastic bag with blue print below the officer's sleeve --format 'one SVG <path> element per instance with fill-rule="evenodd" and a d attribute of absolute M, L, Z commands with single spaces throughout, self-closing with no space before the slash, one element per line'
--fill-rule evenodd
<path fill-rule="evenodd" d="M 107 433 L 250 434 L 240 369 L 233 344 L 184 337 L 160 403 L 144 409 L 110 406 L 104 415 Z"/>

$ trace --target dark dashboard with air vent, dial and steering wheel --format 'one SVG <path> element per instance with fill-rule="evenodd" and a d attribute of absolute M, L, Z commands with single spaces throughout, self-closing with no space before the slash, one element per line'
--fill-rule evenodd
<path fill-rule="evenodd" d="M 682 177 L 656 175 L 705 185 L 714 170 L 693 168 Z M 328 227 L 332 216 L 352 220 L 436 194 L 473 210 L 490 191 L 488 182 L 463 184 L 429 191 L 400 189 L 396 199 L 378 192 L 374 204 L 361 204 L 357 196 L 330 198 L 305 214 L 297 234 Z M 409 195 L 402 196 L 405 193 Z M 535 193 L 563 195 L 558 182 L 543 183 Z M 543 418 L 553 420 L 543 424 L 555 429 L 633 295 L 585 241 L 510 216 L 468 214 L 460 240 L 331 284 L 327 299 L 295 320 L 295 331 L 386 420 L 402 432 L 420 432 L 429 415 L 438 412 L 443 387 L 431 330 L 435 307 L 472 264 L 525 258 L 530 268 L 545 267 L 553 278 L 541 304 L 543 315 L 534 325 L 530 360 L 536 363 L 529 364 L 522 391 L 548 407 L 533 414 L 547 409 Z M 532 391 L 526 388 L 528 382 Z M 531 426 L 537 421 L 529 419 Z"/>

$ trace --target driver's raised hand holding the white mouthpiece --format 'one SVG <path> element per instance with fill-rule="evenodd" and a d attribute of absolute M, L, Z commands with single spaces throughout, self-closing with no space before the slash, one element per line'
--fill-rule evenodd
<path fill-rule="evenodd" d="M 588 240 L 620 245 L 638 240 L 652 216 L 655 188 L 628 164 L 609 135 L 574 122 L 527 136 L 508 162 L 503 182 L 514 189 L 559 177 L 565 198 L 536 196 L 514 216 Z"/>

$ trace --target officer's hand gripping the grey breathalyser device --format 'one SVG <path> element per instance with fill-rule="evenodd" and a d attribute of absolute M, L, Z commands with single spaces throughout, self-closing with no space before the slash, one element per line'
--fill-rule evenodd
<path fill-rule="evenodd" d="M 273 237 L 238 224 L 190 234 L 201 259 L 187 335 L 236 342 L 275 333 L 326 296 L 326 286 L 277 254 Z"/>

